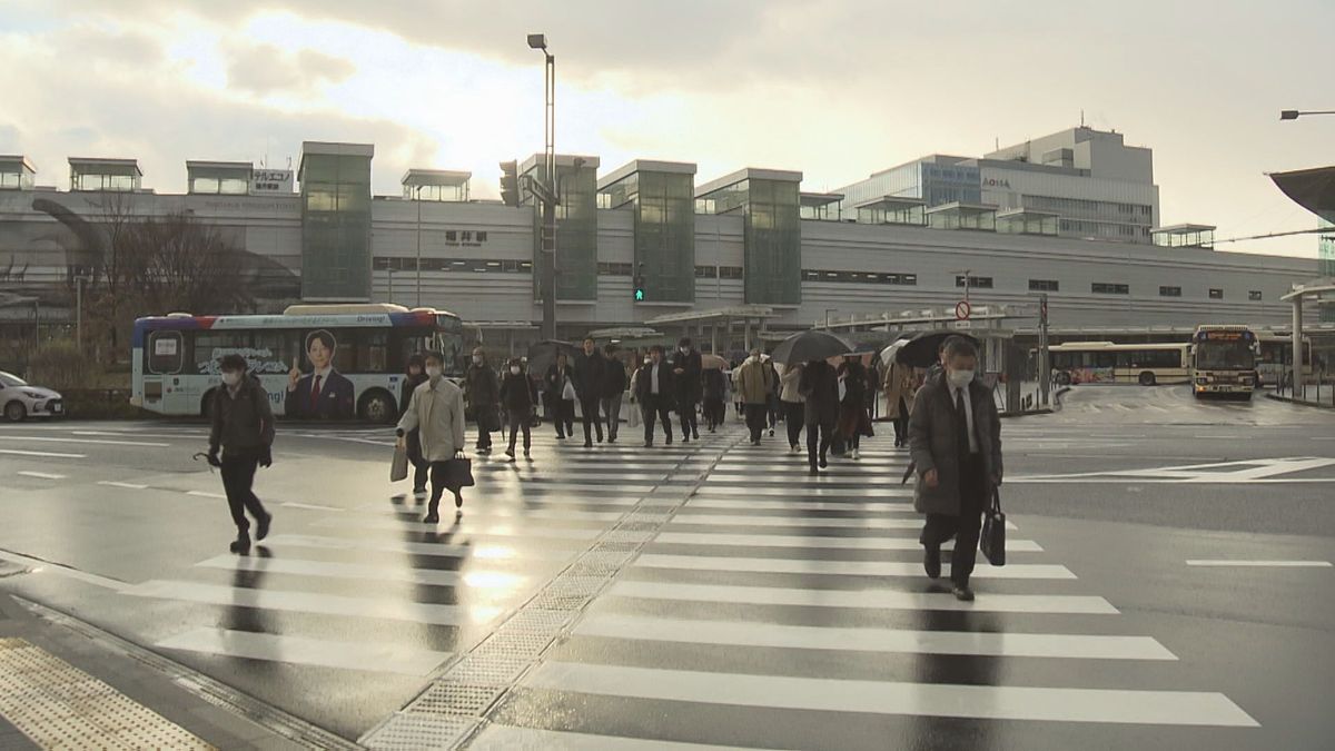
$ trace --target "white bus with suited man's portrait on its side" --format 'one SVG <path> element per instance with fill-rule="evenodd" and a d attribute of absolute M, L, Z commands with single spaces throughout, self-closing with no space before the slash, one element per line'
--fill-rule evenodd
<path fill-rule="evenodd" d="M 246 358 L 274 414 L 390 422 L 410 354 L 435 350 L 446 374 L 465 367 L 465 326 L 443 310 L 400 305 L 294 305 L 279 315 L 172 313 L 135 321 L 131 404 L 207 416 L 219 359 Z"/>

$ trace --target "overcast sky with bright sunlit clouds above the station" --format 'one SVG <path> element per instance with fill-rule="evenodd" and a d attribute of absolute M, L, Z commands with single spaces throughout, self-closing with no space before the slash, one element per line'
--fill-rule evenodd
<path fill-rule="evenodd" d="M 180 192 L 186 159 L 294 166 L 302 140 L 375 143 L 409 167 L 557 148 L 801 170 L 804 190 L 1085 123 L 1155 152 L 1163 223 L 1220 238 L 1315 218 L 1264 172 L 1335 163 L 1331 0 L 0 0 L 0 154 L 67 187 L 68 156 L 136 158 Z M 1315 237 L 1222 245 L 1316 255 Z"/>

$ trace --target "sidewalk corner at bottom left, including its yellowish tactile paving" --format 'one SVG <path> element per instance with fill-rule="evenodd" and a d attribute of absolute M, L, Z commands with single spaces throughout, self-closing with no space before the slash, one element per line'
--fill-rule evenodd
<path fill-rule="evenodd" d="M 302 748 L 0 593 L 0 748 L 99 747 Z"/>

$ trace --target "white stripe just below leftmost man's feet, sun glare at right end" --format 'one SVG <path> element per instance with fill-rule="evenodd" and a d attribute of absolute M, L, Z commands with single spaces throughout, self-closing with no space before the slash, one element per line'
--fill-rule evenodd
<path fill-rule="evenodd" d="M 502 571 L 437 571 L 434 568 L 402 568 L 303 559 L 262 559 L 258 556 L 216 556 L 195 564 L 200 568 L 224 571 L 254 571 L 258 573 L 291 573 L 328 579 L 367 579 L 371 581 L 407 581 L 433 587 L 467 587 L 470 589 L 510 591 L 526 584 L 530 577 Z M 471 596 L 477 596 L 474 592 Z"/>

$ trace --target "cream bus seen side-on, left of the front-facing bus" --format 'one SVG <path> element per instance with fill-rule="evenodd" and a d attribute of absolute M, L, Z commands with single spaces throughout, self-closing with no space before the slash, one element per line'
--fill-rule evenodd
<path fill-rule="evenodd" d="M 1065 342 L 1048 347 L 1052 378 L 1071 384 L 1187 384 L 1191 346 L 1183 343 Z"/>

